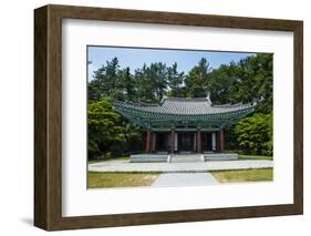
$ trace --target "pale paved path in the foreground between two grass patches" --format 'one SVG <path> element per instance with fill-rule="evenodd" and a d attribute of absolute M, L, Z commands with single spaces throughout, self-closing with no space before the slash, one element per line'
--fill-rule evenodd
<path fill-rule="evenodd" d="M 178 187 L 218 184 L 210 173 L 165 173 L 152 184 L 152 187 Z"/>

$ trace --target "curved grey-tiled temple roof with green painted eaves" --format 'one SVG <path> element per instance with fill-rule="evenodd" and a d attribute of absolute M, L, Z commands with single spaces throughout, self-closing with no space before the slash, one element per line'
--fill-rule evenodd
<path fill-rule="evenodd" d="M 200 126 L 224 126 L 253 111 L 253 105 L 214 105 L 208 98 L 165 98 L 159 104 L 116 101 L 113 109 L 142 126 L 167 126 L 191 123 Z"/>

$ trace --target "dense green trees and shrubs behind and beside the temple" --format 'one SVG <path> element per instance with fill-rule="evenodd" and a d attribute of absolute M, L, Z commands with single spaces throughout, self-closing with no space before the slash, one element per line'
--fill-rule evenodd
<path fill-rule="evenodd" d="M 272 54 L 257 54 L 217 69 L 203 58 L 188 73 L 178 71 L 177 63 L 132 71 L 121 69 L 117 58 L 107 61 L 89 81 L 89 156 L 143 150 L 143 131 L 112 110 L 113 100 L 159 102 L 208 93 L 215 104 L 257 103 L 253 114 L 227 127 L 226 142 L 245 153 L 272 154 Z"/>

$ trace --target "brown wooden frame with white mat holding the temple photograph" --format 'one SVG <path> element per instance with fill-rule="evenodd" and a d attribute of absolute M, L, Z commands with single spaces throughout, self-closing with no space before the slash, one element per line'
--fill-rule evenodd
<path fill-rule="evenodd" d="M 34 225 L 303 212 L 303 23 L 34 10 Z"/>

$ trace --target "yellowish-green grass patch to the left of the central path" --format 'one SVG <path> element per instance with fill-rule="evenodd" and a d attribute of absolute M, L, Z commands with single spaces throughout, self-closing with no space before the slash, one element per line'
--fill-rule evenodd
<path fill-rule="evenodd" d="M 149 186 L 159 173 L 89 172 L 89 188 Z"/>

